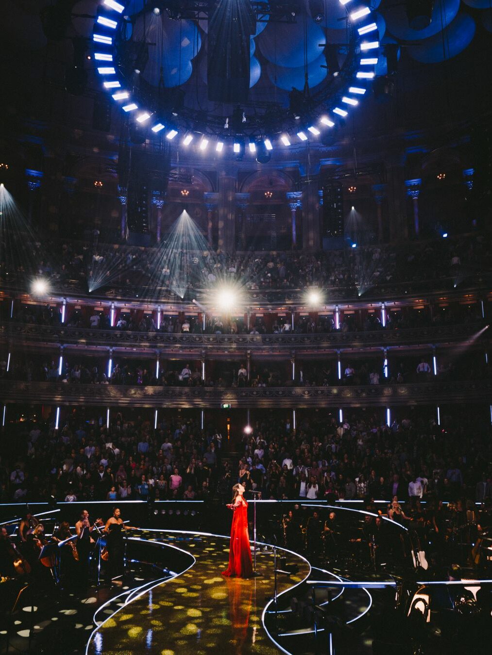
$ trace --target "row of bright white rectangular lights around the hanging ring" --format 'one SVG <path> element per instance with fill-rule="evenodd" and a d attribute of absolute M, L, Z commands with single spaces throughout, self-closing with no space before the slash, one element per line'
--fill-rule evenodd
<path fill-rule="evenodd" d="M 354 3 L 354 5 L 358 5 L 357 9 L 354 9 L 348 14 L 350 20 L 353 22 L 358 22 L 363 19 L 368 20 L 369 22 L 366 22 L 363 26 L 358 28 L 358 34 L 361 37 L 370 35 L 368 38 L 371 39 L 372 37 L 374 39 L 372 41 L 363 41 L 360 44 L 360 68 L 356 73 L 357 81 L 354 83 L 356 85 L 349 86 L 348 91 L 341 98 L 341 106 L 337 106 L 332 109 L 332 113 L 334 115 L 340 119 L 344 119 L 348 115 L 348 111 L 352 107 L 356 107 L 359 104 L 359 99 L 367 91 L 367 89 L 364 86 L 361 86 L 361 84 L 365 81 L 371 81 L 375 77 L 374 66 L 378 61 L 380 44 L 379 35 L 377 32 L 377 24 L 370 18 L 371 9 L 364 5 L 359 5 L 358 0 L 338 1 L 341 5 L 348 5 L 348 3 Z M 124 5 L 115 2 L 115 0 L 102 0 L 102 5 L 106 10 L 110 10 L 110 12 L 116 12 L 117 14 L 121 14 L 125 9 Z M 167 126 L 166 128 L 165 124 L 162 122 L 155 122 L 155 114 L 151 111 L 146 111 L 145 109 L 139 107 L 138 103 L 134 102 L 134 100 L 131 98 L 130 92 L 123 89 L 121 87 L 120 81 L 115 77 L 117 72 L 113 65 L 113 54 L 112 52 L 105 50 L 105 47 L 112 48 L 114 45 L 112 30 L 115 30 L 118 25 L 118 20 L 115 20 L 115 18 L 117 18 L 117 16 L 115 16 L 114 13 L 106 16 L 98 12 L 96 24 L 94 26 L 93 40 L 96 47 L 96 51 L 94 52 L 94 60 L 98 62 L 98 73 L 102 76 L 102 84 L 106 90 L 112 92 L 113 100 L 120 104 L 121 109 L 123 109 L 125 113 L 134 115 L 135 121 L 138 124 L 144 125 L 147 123 L 150 124 L 150 122 L 154 122 L 151 128 L 152 132 L 154 132 L 154 134 L 158 134 L 162 130 L 167 129 L 165 132 L 165 138 L 167 138 L 169 141 L 172 141 L 178 136 L 179 130 L 177 130 L 175 126 Z M 153 117 L 154 121 L 151 121 Z M 279 144 L 283 145 L 284 147 L 289 147 L 292 145 L 296 137 L 298 142 L 308 141 L 308 139 L 312 137 L 319 136 L 323 128 L 331 128 L 335 126 L 335 120 L 337 120 L 335 119 L 335 116 L 331 117 L 330 115 L 323 115 L 319 118 L 317 125 L 309 125 L 304 130 L 299 130 L 295 136 L 287 133 L 281 134 L 279 136 Z M 181 145 L 187 147 L 190 145 L 190 143 L 192 143 L 192 141 L 195 140 L 195 138 L 197 138 L 198 148 L 202 152 L 205 152 L 208 149 L 210 142 L 213 140 L 212 137 L 206 136 L 205 134 L 199 134 L 197 132 L 186 132 L 182 136 Z M 242 138 L 237 138 L 236 140 L 230 141 L 232 141 L 233 153 L 235 155 L 241 156 L 245 151 L 245 141 Z M 260 148 L 271 151 L 274 149 L 274 143 L 272 141 L 273 138 L 268 137 L 261 140 L 250 140 L 247 144 L 248 150 L 252 155 L 255 155 L 256 151 Z M 225 141 L 220 139 L 216 140 L 216 153 L 222 153 L 224 150 L 224 145 Z"/>

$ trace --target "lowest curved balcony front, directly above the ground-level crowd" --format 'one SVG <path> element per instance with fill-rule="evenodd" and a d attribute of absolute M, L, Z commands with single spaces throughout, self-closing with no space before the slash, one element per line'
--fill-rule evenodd
<path fill-rule="evenodd" d="M 489 403 L 492 381 L 372 384 L 364 386 L 294 386 L 216 388 L 117 386 L 46 382 L 0 382 L 7 403 L 98 405 L 100 407 L 366 407 L 369 405 L 438 405 Z"/>

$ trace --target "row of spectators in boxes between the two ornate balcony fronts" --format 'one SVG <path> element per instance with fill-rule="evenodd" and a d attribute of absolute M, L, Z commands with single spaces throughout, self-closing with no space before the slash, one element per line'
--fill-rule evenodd
<path fill-rule="evenodd" d="M 293 375 L 294 372 L 294 375 Z M 158 377 L 157 377 L 158 376 Z M 379 355 L 340 361 L 325 358 L 314 362 L 298 358 L 295 368 L 290 361 L 265 362 L 253 360 L 249 377 L 246 362 L 217 360 L 202 369 L 194 360 L 157 363 L 142 360 L 109 360 L 66 354 L 60 367 L 59 358 L 44 358 L 22 352 L 0 356 L 0 378 L 25 382 L 61 382 L 67 384 L 114 384 L 125 386 L 202 386 L 216 388 L 277 387 L 277 386 L 339 386 L 364 384 L 403 384 L 432 381 L 483 380 L 490 376 L 487 356 L 481 351 L 470 352 L 462 347 L 443 352 L 434 360 L 430 354 L 418 352 L 388 358 L 386 365 Z"/>

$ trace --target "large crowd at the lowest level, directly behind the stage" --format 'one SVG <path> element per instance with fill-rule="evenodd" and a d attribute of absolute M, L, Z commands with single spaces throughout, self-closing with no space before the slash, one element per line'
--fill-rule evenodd
<path fill-rule="evenodd" d="M 380 413 L 380 412 L 379 412 Z M 272 412 L 241 435 L 237 460 L 222 457 L 222 434 L 192 420 L 132 420 L 73 409 L 54 421 L 24 421 L 5 430 L 0 502 L 48 500 L 211 500 L 234 483 L 264 498 L 327 500 L 492 500 L 490 426 L 407 413 L 387 426 L 378 411 L 300 420 Z M 153 423 L 153 421 L 152 421 Z M 409 510 L 410 511 L 410 510 Z M 407 510 L 405 509 L 405 513 Z"/>

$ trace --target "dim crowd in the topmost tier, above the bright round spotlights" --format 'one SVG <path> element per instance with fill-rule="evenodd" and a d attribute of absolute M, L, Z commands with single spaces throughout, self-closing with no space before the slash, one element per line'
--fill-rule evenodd
<path fill-rule="evenodd" d="M 39 246 L 33 244 L 33 248 Z M 179 260 L 183 266 L 186 264 L 190 291 L 213 289 L 217 282 L 228 281 L 239 282 L 251 291 L 344 288 L 348 297 L 354 297 L 377 286 L 406 283 L 410 290 L 417 290 L 420 282 L 436 284 L 445 278 L 459 283 L 468 276 L 489 272 L 492 263 L 489 239 L 482 234 L 313 255 L 297 251 L 233 255 L 220 250 L 193 254 L 173 253 L 165 248 L 159 253 L 155 248 L 101 244 L 98 239 L 92 243 L 67 241 L 60 244 L 58 252 L 36 253 L 34 267 L 26 262 L 30 270 L 4 260 L 0 280 L 27 283 L 37 274 L 49 278 L 55 287 L 73 280 L 83 291 L 115 288 L 138 297 L 152 297 L 157 287 L 159 294 L 163 288 L 173 288 L 174 273 L 169 263 L 172 266 Z"/>

